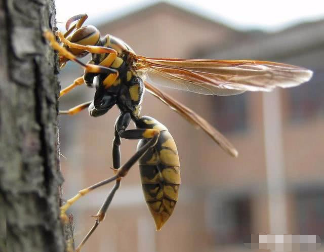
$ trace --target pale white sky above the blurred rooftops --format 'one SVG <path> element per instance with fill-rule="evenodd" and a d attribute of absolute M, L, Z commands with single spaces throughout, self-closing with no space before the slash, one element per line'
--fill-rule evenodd
<path fill-rule="evenodd" d="M 77 14 L 87 13 L 88 24 L 99 24 L 127 13 L 145 8 L 156 0 L 55 0 L 56 19 L 62 24 Z M 239 30 L 261 29 L 278 31 L 303 21 L 324 19 L 322 0 L 173 0 L 164 1 L 181 8 L 223 22 Z"/>

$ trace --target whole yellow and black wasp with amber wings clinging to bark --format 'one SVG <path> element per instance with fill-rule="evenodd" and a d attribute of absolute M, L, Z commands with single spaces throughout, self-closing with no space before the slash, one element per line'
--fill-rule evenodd
<path fill-rule="evenodd" d="M 203 129 L 230 155 L 238 152 L 210 123 L 194 111 L 159 90 L 153 83 L 169 88 L 204 95 L 236 95 L 245 91 L 271 91 L 275 87 L 289 88 L 308 81 L 312 71 L 288 64 L 256 60 L 199 60 L 147 58 L 137 55 L 123 40 L 112 35 L 101 36 L 92 26 L 84 26 L 86 14 L 71 17 L 66 32 L 46 31 L 44 36 L 59 53 L 59 65 L 71 60 L 82 66 L 83 76 L 60 92 L 63 96 L 84 83 L 96 89 L 93 101 L 80 104 L 61 114 L 73 115 L 88 108 L 90 116 L 101 116 L 116 105 L 120 115 L 114 125 L 112 163 L 114 176 L 80 190 L 61 207 L 61 216 L 77 199 L 102 185 L 115 181 L 108 197 L 99 209 L 94 226 L 77 248 L 104 220 L 109 204 L 131 167 L 138 161 L 144 197 L 159 230 L 172 215 L 180 187 L 180 162 L 177 147 L 165 125 L 149 116 L 141 116 L 141 102 L 147 90 L 196 128 Z M 71 25 L 74 23 L 73 25 Z M 59 42 L 56 40 L 58 37 Z M 82 58 L 91 53 L 87 64 Z M 135 130 L 127 130 L 130 122 Z M 120 139 L 139 140 L 136 153 L 120 164 Z"/>

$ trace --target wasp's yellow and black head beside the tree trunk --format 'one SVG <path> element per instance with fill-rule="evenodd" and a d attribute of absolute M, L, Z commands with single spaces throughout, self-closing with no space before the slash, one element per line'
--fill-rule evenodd
<path fill-rule="evenodd" d="M 73 34 L 67 37 L 67 39 L 78 45 L 95 46 L 100 39 L 100 32 L 92 25 L 83 26 L 74 31 Z M 83 57 L 88 54 L 88 52 L 84 50 L 74 48 L 68 48 L 68 51 L 76 57 Z"/>

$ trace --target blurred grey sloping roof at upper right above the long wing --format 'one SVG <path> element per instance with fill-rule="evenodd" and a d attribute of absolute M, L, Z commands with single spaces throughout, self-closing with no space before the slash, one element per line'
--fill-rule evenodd
<path fill-rule="evenodd" d="M 306 22 L 275 33 L 247 33 L 245 39 L 214 48 L 218 59 L 280 59 L 324 48 L 324 20 Z"/>

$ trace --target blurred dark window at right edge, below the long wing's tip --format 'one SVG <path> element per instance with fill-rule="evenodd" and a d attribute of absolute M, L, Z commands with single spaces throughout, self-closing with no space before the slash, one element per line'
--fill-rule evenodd
<path fill-rule="evenodd" d="M 288 94 L 292 121 L 324 115 L 324 69 L 315 70 L 309 83 L 288 90 Z"/>

